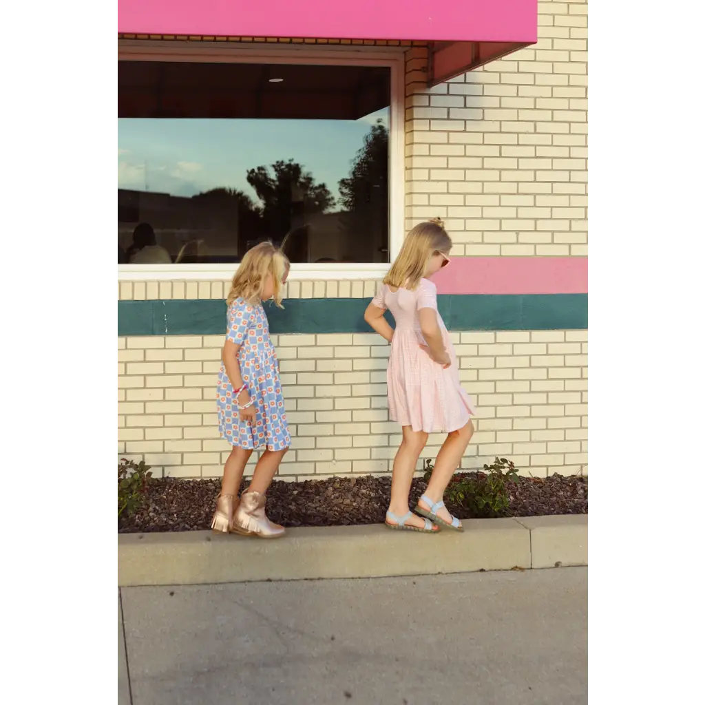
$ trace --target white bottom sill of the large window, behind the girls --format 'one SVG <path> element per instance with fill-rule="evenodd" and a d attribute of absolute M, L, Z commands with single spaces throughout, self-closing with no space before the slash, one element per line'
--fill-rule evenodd
<path fill-rule="evenodd" d="M 381 279 L 391 264 L 292 264 L 288 281 L 362 281 Z M 116 264 L 116 281 L 225 281 L 233 264 Z"/>

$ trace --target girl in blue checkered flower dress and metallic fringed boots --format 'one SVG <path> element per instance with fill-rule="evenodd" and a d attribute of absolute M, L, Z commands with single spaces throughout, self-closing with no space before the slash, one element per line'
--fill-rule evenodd
<path fill-rule="evenodd" d="M 218 375 L 221 436 L 233 446 L 223 470 L 221 493 L 211 524 L 216 533 L 281 537 L 285 529 L 264 513 L 265 494 L 291 444 L 269 322 L 262 302 L 282 308 L 289 271 L 286 255 L 271 243 L 245 253 L 228 293 L 228 333 Z M 238 488 L 253 450 L 264 448 L 250 486 Z"/>

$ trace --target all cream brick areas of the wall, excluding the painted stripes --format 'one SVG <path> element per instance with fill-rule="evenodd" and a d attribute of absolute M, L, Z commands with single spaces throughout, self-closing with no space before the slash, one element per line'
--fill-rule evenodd
<path fill-rule="evenodd" d="M 427 48 L 401 43 L 410 47 L 407 228 L 443 217 L 456 256 L 588 254 L 588 35 L 587 2 L 539 2 L 538 44 L 431 89 Z M 118 298 L 223 299 L 228 286 L 121 282 Z M 365 298 L 377 286 L 292 281 L 285 297 Z M 503 455 L 539 477 L 587 473 L 588 332 L 452 336 L 479 407 L 462 467 Z M 372 333 L 274 339 L 293 432 L 280 479 L 389 472 L 400 436 L 386 408 L 388 347 Z M 220 335 L 118 338 L 118 455 L 157 475 L 221 476 L 230 448 L 214 400 L 222 344 Z M 422 459 L 442 439 L 431 436 Z"/>

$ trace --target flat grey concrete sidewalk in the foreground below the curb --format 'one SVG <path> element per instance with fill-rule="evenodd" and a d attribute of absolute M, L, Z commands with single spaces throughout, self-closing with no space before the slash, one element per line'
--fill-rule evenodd
<path fill-rule="evenodd" d="M 587 571 L 121 588 L 116 703 L 587 704 Z"/>

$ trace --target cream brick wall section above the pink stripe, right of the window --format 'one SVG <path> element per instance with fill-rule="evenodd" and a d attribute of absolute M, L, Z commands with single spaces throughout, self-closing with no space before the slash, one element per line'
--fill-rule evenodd
<path fill-rule="evenodd" d="M 588 4 L 539 2 L 539 42 L 428 88 L 406 51 L 406 227 L 454 255 L 588 254 Z"/>

